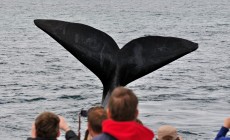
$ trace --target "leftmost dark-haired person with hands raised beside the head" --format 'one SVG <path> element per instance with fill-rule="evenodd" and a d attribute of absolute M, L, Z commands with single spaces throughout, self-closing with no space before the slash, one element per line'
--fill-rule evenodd
<path fill-rule="evenodd" d="M 65 131 L 66 140 L 79 140 L 65 119 L 52 112 L 43 112 L 32 125 L 31 137 L 27 140 L 57 140 L 60 130 Z"/>

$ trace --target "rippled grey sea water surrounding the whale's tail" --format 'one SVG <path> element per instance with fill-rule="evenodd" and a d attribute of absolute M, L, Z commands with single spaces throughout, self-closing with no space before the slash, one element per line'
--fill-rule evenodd
<path fill-rule="evenodd" d="M 38 29 L 38 18 L 93 26 L 120 47 L 144 35 L 199 43 L 127 85 L 140 100 L 139 118 L 154 132 L 170 124 L 184 140 L 212 140 L 230 116 L 229 0 L 1 0 L 0 139 L 26 139 L 43 111 L 63 115 L 76 131 L 80 109 L 101 102 L 99 79 Z"/>

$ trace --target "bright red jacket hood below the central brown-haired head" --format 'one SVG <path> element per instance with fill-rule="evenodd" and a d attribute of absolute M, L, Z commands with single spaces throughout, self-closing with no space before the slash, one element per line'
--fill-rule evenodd
<path fill-rule="evenodd" d="M 117 140 L 152 140 L 154 138 L 153 131 L 135 121 L 117 122 L 108 119 L 103 121 L 102 125 L 102 131 Z"/>

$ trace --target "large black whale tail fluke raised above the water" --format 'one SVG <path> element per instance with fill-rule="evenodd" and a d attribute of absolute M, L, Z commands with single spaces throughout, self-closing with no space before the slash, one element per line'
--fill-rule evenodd
<path fill-rule="evenodd" d="M 101 80 L 103 106 L 115 87 L 125 86 L 198 48 L 197 43 L 181 38 L 145 36 L 119 49 L 109 35 L 84 24 L 45 19 L 34 23 Z"/>

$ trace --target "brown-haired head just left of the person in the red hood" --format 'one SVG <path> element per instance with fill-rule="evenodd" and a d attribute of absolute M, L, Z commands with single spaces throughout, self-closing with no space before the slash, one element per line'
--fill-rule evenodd
<path fill-rule="evenodd" d="M 94 137 L 102 133 L 102 122 L 107 119 L 106 111 L 103 107 L 92 107 L 88 111 L 88 130 Z"/>

